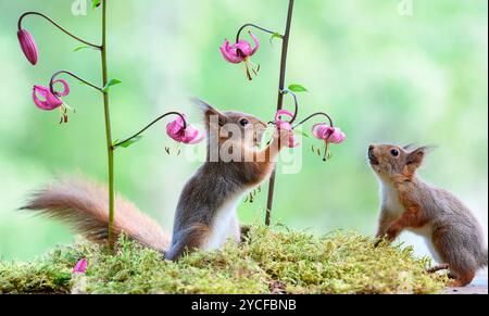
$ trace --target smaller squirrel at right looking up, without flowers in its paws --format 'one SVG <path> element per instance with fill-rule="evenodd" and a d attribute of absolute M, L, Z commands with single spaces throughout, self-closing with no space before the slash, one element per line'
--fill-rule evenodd
<path fill-rule="evenodd" d="M 404 229 L 423 236 L 435 260 L 443 263 L 431 270 L 449 269 L 454 279 L 450 286 L 465 287 L 488 265 L 482 229 L 459 199 L 416 175 L 428 149 L 369 147 L 368 159 L 383 195 L 377 237 L 393 241 Z"/>

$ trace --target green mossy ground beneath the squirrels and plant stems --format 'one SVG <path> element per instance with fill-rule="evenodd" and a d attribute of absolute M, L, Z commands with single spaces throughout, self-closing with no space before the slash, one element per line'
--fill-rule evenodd
<path fill-rule="evenodd" d="M 80 258 L 86 275 L 72 278 Z M 354 232 L 316 237 L 255 226 L 240 245 L 178 263 L 121 237 L 116 254 L 88 242 L 30 263 L 0 263 L 0 293 L 438 293 L 446 277 L 425 273 L 411 248 L 374 247 Z"/>

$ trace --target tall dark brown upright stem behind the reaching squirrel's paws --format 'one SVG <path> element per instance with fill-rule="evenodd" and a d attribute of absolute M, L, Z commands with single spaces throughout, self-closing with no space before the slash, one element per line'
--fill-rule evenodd
<path fill-rule="evenodd" d="M 280 111 L 284 106 L 284 86 L 286 79 L 286 69 L 287 69 L 287 54 L 289 50 L 289 39 L 290 39 L 290 27 L 292 25 L 292 14 L 293 14 L 293 0 L 289 0 L 289 10 L 287 14 L 287 24 L 286 31 L 284 34 L 283 46 L 281 46 L 281 62 L 280 62 L 280 79 L 278 87 L 278 100 L 277 100 L 277 111 Z M 268 185 L 268 199 L 266 202 L 266 217 L 265 225 L 269 226 L 272 222 L 272 207 L 274 205 L 274 191 L 275 191 L 275 177 L 276 169 L 273 170 L 272 176 L 269 178 Z"/>

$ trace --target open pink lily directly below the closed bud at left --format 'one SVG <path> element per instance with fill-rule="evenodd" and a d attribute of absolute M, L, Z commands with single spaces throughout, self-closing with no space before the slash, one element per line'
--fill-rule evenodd
<path fill-rule="evenodd" d="M 33 89 L 33 100 L 37 108 L 43 111 L 52 111 L 60 109 L 60 123 L 67 123 L 67 110 L 72 110 L 66 103 L 64 103 L 60 97 L 66 97 L 70 93 L 70 86 L 63 79 L 58 79 L 53 84 L 62 84 L 63 91 L 51 92 L 49 87 L 36 85 Z"/>

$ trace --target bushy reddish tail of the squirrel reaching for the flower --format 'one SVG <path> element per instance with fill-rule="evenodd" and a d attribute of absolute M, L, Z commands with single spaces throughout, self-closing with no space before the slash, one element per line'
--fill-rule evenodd
<path fill-rule="evenodd" d="M 108 239 L 108 190 L 101 185 L 82 178 L 64 177 L 32 194 L 21 210 L 38 211 L 61 219 L 87 239 L 103 243 Z M 114 230 L 127 233 L 145 247 L 160 252 L 168 249 L 168 236 L 133 203 L 115 198 Z"/>

